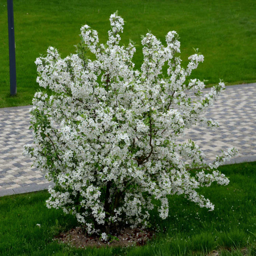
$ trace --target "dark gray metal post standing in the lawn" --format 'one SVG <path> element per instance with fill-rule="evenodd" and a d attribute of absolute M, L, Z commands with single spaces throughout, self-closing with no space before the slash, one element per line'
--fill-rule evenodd
<path fill-rule="evenodd" d="M 11 95 L 15 95 L 17 93 L 17 86 L 16 86 L 13 0 L 7 0 L 7 13 L 8 13 L 8 34 L 9 34 L 10 93 Z"/>

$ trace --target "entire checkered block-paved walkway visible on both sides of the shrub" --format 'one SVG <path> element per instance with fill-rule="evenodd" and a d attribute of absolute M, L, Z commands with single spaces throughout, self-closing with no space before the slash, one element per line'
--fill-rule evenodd
<path fill-rule="evenodd" d="M 33 142 L 29 108 L 0 109 L 0 196 L 49 186 L 42 173 L 31 168 L 32 161 L 22 155 L 23 145 Z M 207 161 L 228 147 L 239 151 L 230 163 L 256 161 L 256 83 L 228 86 L 205 116 L 218 121 L 220 128 L 213 131 L 194 126 L 184 140 L 191 138 L 199 144 Z"/>

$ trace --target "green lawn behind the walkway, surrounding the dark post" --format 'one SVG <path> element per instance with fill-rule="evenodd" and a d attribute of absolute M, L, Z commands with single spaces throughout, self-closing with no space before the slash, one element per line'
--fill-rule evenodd
<path fill-rule="evenodd" d="M 208 84 L 218 83 L 219 78 L 229 84 L 256 81 L 255 0 L 14 0 L 17 96 L 10 97 L 7 4 L 1 0 L 0 107 L 31 104 L 38 89 L 36 57 L 45 54 L 49 45 L 62 56 L 74 53 L 85 23 L 105 42 L 109 16 L 116 10 L 127 21 L 121 42 L 131 38 L 139 45 L 136 68 L 142 62 L 140 35 L 150 29 L 164 42 L 167 32 L 176 30 L 184 65 L 193 47 L 205 56 L 194 77 Z"/>

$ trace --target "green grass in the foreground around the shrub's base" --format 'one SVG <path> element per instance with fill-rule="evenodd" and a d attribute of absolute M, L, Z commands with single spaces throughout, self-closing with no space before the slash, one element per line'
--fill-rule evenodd
<path fill-rule="evenodd" d="M 169 198 L 169 217 L 161 220 L 151 214 L 160 232 L 143 247 L 75 249 L 59 245 L 52 238 L 61 230 L 76 227 L 76 220 L 61 210 L 48 209 L 48 192 L 0 198 L 0 255 L 3 256 L 169 256 L 256 255 L 256 162 L 219 168 L 230 183 L 201 189 L 214 204 L 207 211 L 182 196 Z M 36 224 L 41 224 L 39 228 Z"/>

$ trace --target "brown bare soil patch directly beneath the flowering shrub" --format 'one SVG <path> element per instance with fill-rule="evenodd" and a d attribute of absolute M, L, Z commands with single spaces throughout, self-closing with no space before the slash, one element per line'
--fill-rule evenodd
<path fill-rule="evenodd" d="M 104 242 L 100 240 L 99 235 L 89 236 L 83 234 L 81 227 L 72 228 L 67 232 L 61 232 L 59 235 L 55 236 L 54 240 L 59 243 L 67 243 L 77 248 L 86 247 L 104 247 L 104 246 L 141 246 L 145 245 L 148 240 L 150 240 L 154 234 L 148 229 L 138 229 L 138 228 L 125 228 L 119 233 L 112 234 L 116 236 L 112 241 Z"/>

